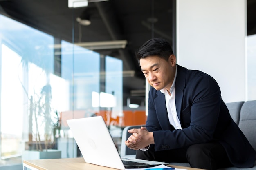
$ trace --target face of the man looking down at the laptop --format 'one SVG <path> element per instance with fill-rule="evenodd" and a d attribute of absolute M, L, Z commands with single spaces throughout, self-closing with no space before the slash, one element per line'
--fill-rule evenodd
<path fill-rule="evenodd" d="M 144 73 L 150 86 L 156 90 L 171 88 L 175 77 L 176 57 L 170 55 L 168 61 L 158 56 L 148 56 L 139 60 L 141 71 Z"/>

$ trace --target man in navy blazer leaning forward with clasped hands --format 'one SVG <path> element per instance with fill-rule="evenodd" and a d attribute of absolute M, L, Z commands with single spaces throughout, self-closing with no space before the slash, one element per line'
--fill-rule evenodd
<path fill-rule="evenodd" d="M 137 159 L 212 169 L 254 166 L 255 150 L 232 120 L 217 82 L 176 64 L 171 45 L 148 40 L 136 53 L 148 83 L 146 127 L 130 129 Z M 217 63 L 218 64 L 218 63 Z"/>

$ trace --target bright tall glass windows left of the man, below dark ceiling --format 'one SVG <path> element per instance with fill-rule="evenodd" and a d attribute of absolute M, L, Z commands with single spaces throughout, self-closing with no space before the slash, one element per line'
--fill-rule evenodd
<path fill-rule="evenodd" d="M 27 150 L 81 156 L 67 119 L 107 113 L 107 125 L 119 127 L 122 60 L 56 41 L 4 15 L 0 31 L 1 165 L 22 163 Z"/>

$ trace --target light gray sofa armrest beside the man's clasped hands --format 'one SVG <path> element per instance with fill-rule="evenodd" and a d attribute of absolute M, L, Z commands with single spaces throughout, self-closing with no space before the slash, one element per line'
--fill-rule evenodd
<path fill-rule="evenodd" d="M 133 126 L 126 126 L 122 132 L 122 138 L 121 138 L 121 150 L 120 150 L 120 157 L 124 158 L 124 159 L 135 159 L 135 155 L 136 155 L 136 150 L 130 149 L 128 148 L 124 141 L 126 141 L 128 139 L 128 137 L 130 137 L 130 133 L 128 132 L 129 129 L 133 129 L 133 128 L 140 128 L 141 126 L 145 126 L 145 125 L 133 125 Z"/>

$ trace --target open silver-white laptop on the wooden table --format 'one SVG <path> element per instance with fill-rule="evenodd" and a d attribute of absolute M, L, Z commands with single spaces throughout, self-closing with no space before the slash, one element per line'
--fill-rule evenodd
<path fill-rule="evenodd" d="M 141 159 L 122 160 L 101 116 L 70 119 L 67 124 L 86 163 L 120 170 L 169 164 Z"/>

